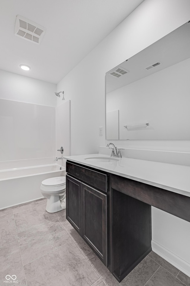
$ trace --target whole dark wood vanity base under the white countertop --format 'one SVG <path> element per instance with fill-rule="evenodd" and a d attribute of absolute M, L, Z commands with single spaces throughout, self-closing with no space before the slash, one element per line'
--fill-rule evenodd
<path fill-rule="evenodd" d="M 151 206 L 190 222 L 190 197 L 66 162 L 66 219 L 115 278 L 151 251 Z"/>

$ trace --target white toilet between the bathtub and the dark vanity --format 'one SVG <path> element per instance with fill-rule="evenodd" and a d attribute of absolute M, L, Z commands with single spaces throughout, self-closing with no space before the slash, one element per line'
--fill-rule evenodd
<path fill-rule="evenodd" d="M 47 212 L 53 213 L 66 209 L 66 177 L 46 179 L 42 181 L 40 189 L 47 199 Z"/>

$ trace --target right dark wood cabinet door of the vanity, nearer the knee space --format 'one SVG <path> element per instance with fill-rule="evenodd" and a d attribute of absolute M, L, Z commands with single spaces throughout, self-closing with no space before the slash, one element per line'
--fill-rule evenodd
<path fill-rule="evenodd" d="M 107 195 L 81 184 L 81 236 L 107 266 Z"/>

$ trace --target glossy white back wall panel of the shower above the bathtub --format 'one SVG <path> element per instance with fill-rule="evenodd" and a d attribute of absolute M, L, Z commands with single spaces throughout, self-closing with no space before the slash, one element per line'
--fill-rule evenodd
<path fill-rule="evenodd" d="M 0 99 L 0 161 L 55 156 L 55 107 Z"/>

